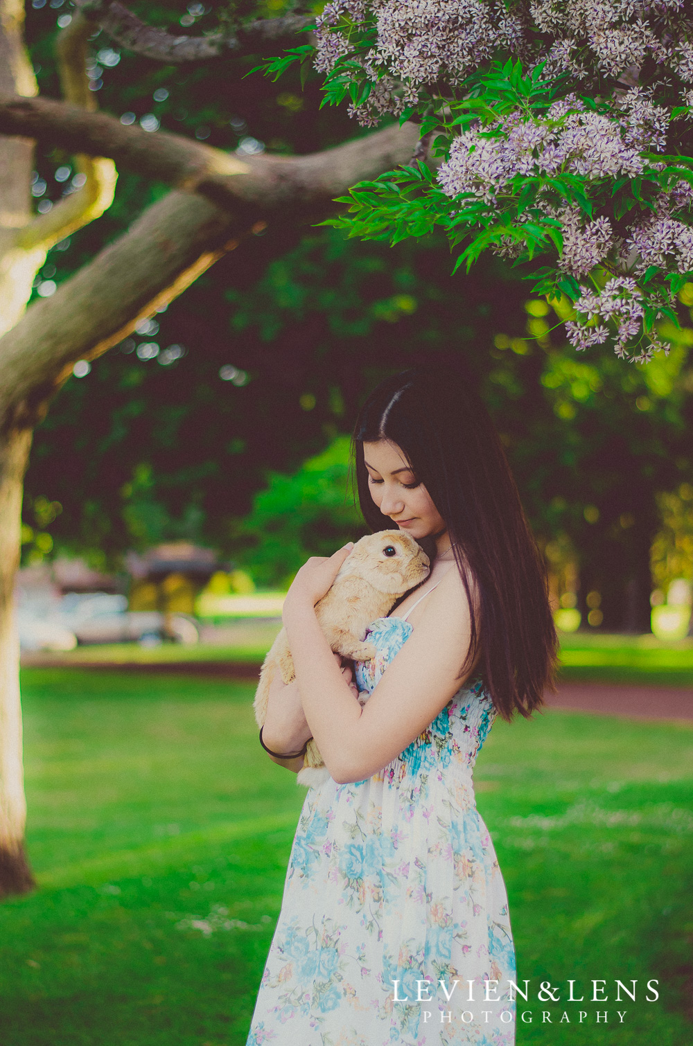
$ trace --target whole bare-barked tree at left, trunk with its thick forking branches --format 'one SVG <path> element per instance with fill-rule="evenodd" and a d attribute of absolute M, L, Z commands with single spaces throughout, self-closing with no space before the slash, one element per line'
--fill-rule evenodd
<path fill-rule="evenodd" d="M 92 6 L 106 6 L 111 16 L 118 7 Z M 264 155 L 241 161 L 177 135 L 126 128 L 94 112 L 93 95 L 85 93 L 87 30 L 82 15 L 61 38 L 63 92 L 68 101 L 33 97 L 36 82 L 22 45 L 22 17 L 21 0 L 0 0 L 0 134 L 14 136 L 3 138 L 0 149 L 0 292 L 5 317 L 0 328 L 0 896 L 31 885 L 23 852 L 19 650 L 12 593 L 19 563 L 22 480 L 33 425 L 76 360 L 93 359 L 116 344 L 226 251 L 264 228 L 272 214 L 288 207 L 313 213 L 325 208 L 354 182 L 409 160 L 418 140 L 417 128 L 405 124 L 312 156 Z M 265 28 L 253 30 L 258 39 L 280 38 L 272 21 L 276 22 L 269 20 Z M 282 31 L 288 31 L 286 26 Z M 249 33 L 245 45 L 250 46 L 252 32 L 247 26 L 243 32 Z M 244 44 L 243 32 L 238 33 L 239 47 Z M 158 45 L 164 44 L 170 41 L 158 40 Z M 224 48 L 228 53 L 228 41 Z M 84 190 L 35 218 L 29 208 L 29 139 L 76 155 L 88 174 Z M 166 182 L 174 191 L 52 297 L 24 312 L 48 247 L 110 204 L 113 160 Z"/>

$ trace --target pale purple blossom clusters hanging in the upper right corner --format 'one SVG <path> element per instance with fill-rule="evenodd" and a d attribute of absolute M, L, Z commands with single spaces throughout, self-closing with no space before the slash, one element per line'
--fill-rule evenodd
<path fill-rule="evenodd" d="M 651 326 L 653 312 L 674 300 L 665 277 L 693 273 L 693 187 L 684 179 L 667 183 L 670 161 L 664 158 L 667 152 L 690 151 L 678 129 L 690 129 L 693 117 L 691 3 L 332 0 L 317 19 L 316 38 L 320 72 L 329 75 L 349 55 L 360 66 L 354 78 L 370 84 L 370 93 L 350 108 L 361 124 L 375 127 L 408 108 L 426 117 L 441 114 L 450 144 L 438 183 L 461 211 L 466 203 L 483 202 L 489 210 L 514 215 L 513 234 L 491 248 L 506 257 L 526 256 L 522 226 L 530 212 L 526 203 L 520 209 L 518 199 L 527 179 L 536 180 L 532 221 L 541 223 L 543 217 L 547 230 L 560 231 L 556 276 L 574 281 L 590 276 L 596 286 L 604 274 L 611 276 L 603 290 L 579 285 L 577 318 L 567 324 L 576 348 L 601 344 L 614 329 L 622 358 L 644 362 L 663 347 L 650 332 L 649 348 L 632 345 Z M 454 115 L 465 96 L 467 88 L 457 89 L 466 77 L 510 55 L 520 58 L 524 68 L 543 63 L 543 81 L 568 73 L 583 95 L 602 89 L 605 95 L 591 105 L 567 95 L 545 111 L 518 100 L 509 115 L 494 118 L 490 111 L 471 128 L 450 127 L 447 114 Z M 628 87 L 638 85 L 644 67 L 647 89 Z M 674 113 L 676 107 L 683 113 Z M 656 153 L 661 161 L 651 155 Z M 631 209 L 614 212 L 614 196 L 641 175 L 645 179 L 638 185 L 647 186 L 647 200 L 636 188 L 626 201 Z M 652 189 L 653 175 L 661 190 Z M 562 188 L 556 182 L 561 178 Z M 599 208 L 596 217 L 566 188 L 580 183 Z M 556 240 L 553 231 L 551 238 Z M 658 270 L 654 281 L 652 267 Z M 648 282 L 642 279 L 646 273 Z"/>

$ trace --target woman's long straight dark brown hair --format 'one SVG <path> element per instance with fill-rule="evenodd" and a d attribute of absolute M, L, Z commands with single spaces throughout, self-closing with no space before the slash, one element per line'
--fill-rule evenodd
<path fill-rule="evenodd" d="M 371 497 L 363 444 L 389 439 L 402 450 L 443 517 L 470 607 L 478 602 L 461 668 L 477 654 L 498 713 L 528 719 L 553 688 L 557 638 L 545 568 L 520 504 L 493 423 L 470 380 L 455 366 L 416 367 L 371 393 L 354 429 L 356 482 L 372 530 L 389 529 Z"/>

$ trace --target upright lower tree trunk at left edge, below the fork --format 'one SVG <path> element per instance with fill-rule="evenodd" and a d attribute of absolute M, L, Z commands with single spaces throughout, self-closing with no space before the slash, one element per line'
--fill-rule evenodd
<path fill-rule="evenodd" d="M 19 638 L 14 615 L 19 566 L 22 484 L 30 429 L 0 434 L 0 897 L 31 889 L 24 855 L 24 772 L 19 700 Z"/>

